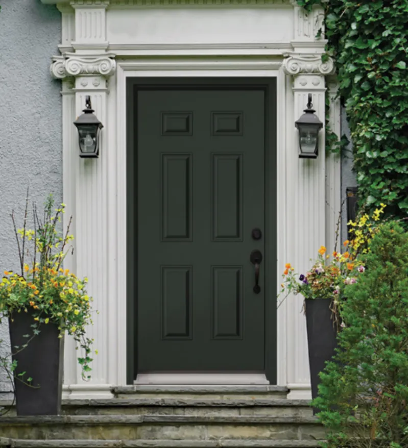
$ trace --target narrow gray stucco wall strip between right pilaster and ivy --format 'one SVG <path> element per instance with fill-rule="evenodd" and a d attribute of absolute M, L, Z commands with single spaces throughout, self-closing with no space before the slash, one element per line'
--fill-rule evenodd
<path fill-rule="evenodd" d="M 342 116 L 341 116 L 341 130 L 342 135 L 346 135 L 349 141 L 350 138 L 350 128 L 348 126 L 347 118 L 346 118 L 346 112 L 344 109 L 342 109 Z M 353 158 L 351 153 L 351 143 L 349 143 L 348 147 L 345 151 L 343 151 L 342 154 L 342 177 L 341 177 L 341 183 L 342 183 L 342 241 L 345 241 L 347 239 L 347 203 L 345 201 L 346 199 L 346 190 L 349 187 L 355 187 L 357 186 L 357 182 L 355 179 L 355 174 L 352 171 L 353 168 Z"/>

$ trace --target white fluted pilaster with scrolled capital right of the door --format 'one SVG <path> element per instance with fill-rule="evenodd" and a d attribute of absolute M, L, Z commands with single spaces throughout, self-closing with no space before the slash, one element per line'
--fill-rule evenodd
<path fill-rule="evenodd" d="M 319 156 L 317 159 L 300 159 L 299 137 L 295 129 L 297 120 L 306 108 L 308 94 L 312 94 L 313 107 L 317 116 L 325 121 L 325 77 L 333 70 L 329 59 L 322 63 L 321 55 L 291 54 L 283 68 L 293 77 L 293 147 L 290 152 L 289 166 L 291 195 L 288 219 L 293 220 L 292 235 L 289 236 L 287 253 L 290 261 L 300 273 L 310 268 L 310 259 L 315 259 L 321 245 L 325 245 L 326 207 L 325 207 L 325 133 L 319 133 Z M 290 215 L 290 216 L 289 216 Z M 287 384 L 291 389 L 291 398 L 310 397 L 310 376 L 307 354 L 306 321 L 302 313 L 303 297 L 287 297 Z"/>

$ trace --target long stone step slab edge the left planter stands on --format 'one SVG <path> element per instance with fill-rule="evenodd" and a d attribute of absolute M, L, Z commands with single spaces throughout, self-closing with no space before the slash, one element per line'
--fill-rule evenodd
<path fill-rule="evenodd" d="M 0 427 L 4 425 L 198 425 L 198 424 L 320 424 L 317 417 L 312 416 L 268 416 L 268 415 L 58 415 L 58 416 L 18 416 L 0 419 Z"/>

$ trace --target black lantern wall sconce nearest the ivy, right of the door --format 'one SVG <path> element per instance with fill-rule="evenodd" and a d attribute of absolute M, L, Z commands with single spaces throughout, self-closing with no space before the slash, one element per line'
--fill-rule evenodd
<path fill-rule="evenodd" d="M 319 131 L 323 128 L 323 123 L 315 115 L 313 104 L 311 103 L 311 93 L 308 95 L 307 109 L 304 114 L 295 122 L 299 130 L 299 158 L 316 159 L 319 150 Z"/>

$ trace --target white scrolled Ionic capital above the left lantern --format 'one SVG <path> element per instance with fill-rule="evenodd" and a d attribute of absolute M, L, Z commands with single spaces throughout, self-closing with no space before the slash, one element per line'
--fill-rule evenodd
<path fill-rule="evenodd" d="M 83 55 L 76 53 L 63 53 L 62 56 L 54 56 L 50 71 L 53 78 L 64 79 L 70 76 L 101 75 L 112 76 L 116 70 L 115 55 L 106 53 L 103 55 Z"/>

